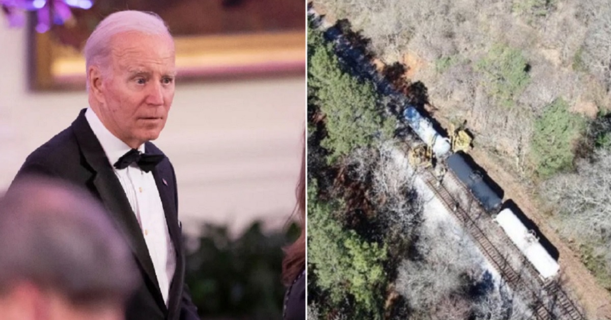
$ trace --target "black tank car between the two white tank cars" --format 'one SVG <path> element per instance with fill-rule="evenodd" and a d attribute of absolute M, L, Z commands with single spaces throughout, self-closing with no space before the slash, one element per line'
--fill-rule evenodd
<path fill-rule="evenodd" d="M 480 202 L 486 212 L 499 212 L 503 201 L 503 195 L 500 194 L 499 191 L 494 190 L 494 188 L 486 182 L 486 177 L 483 172 L 470 165 L 462 152 L 456 152 L 450 155 L 447 160 L 447 165 L 448 169 L 458 177 L 458 180 L 471 191 L 475 199 Z"/>

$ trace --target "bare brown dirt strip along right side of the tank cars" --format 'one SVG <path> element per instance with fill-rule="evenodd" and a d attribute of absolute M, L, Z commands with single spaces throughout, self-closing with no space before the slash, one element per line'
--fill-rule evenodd
<path fill-rule="evenodd" d="M 448 121 L 444 118 L 443 113 L 443 110 L 439 110 L 435 118 L 442 126 L 447 127 Z M 547 222 L 549 218 L 543 215 L 527 188 L 485 150 L 473 149 L 469 155 L 488 172 L 492 180 L 503 188 L 504 200 L 512 199 L 558 249 L 560 254 L 558 263 L 560 263 L 562 279 L 566 283 L 565 288 L 584 307 L 587 318 L 611 319 L 611 294 L 596 283 L 595 277 L 580 261 L 579 254 L 566 245 L 560 235 L 549 225 Z"/>

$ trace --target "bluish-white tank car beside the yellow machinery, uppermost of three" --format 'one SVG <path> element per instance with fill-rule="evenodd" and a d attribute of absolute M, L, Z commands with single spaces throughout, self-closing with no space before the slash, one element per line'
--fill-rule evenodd
<path fill-rule="evenodd" d="M 403 118 L 408 125 L 414 130 L 416 135 L 426 144 L 431 146 L 433 153 L 437 158 L 450 152 L 450 141 L 444 138 L 431 123 L 431 120 L 425 118 L 414 107 L 407 107 L 403 110 Z"/>

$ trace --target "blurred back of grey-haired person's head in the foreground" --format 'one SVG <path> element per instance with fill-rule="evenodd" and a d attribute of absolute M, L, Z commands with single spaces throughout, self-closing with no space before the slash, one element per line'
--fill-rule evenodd
<path fill-rule="evenodd" d="M 120 320 L 137 280 L 89 194 L 28 177 L 0 197 L 0 319 Z"/>

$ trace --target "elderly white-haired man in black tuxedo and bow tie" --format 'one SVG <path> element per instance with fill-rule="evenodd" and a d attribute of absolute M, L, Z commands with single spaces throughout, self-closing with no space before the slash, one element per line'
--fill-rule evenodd
<path fill-rule="evenodd" d="M 142 276 L 127 320 L 199 319 L 184 283 L 174 168 L 150 142 L 174 98 L 174 40 L 159 16 L 128 10 L 101 21 L 84 54 L 89 108 L 32 152 L 16 179 L 59 177 L 104 204 Z"/>

